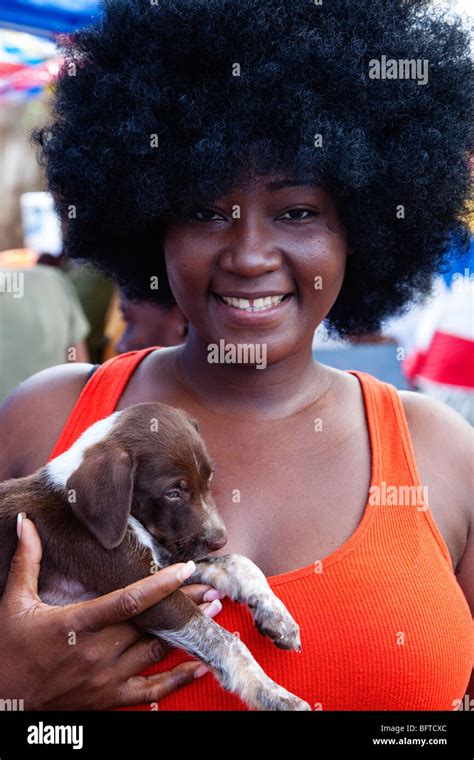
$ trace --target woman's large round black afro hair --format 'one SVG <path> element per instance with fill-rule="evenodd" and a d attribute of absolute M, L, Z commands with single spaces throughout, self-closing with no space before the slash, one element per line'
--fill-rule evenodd
<path fill-rule="evenodd" d="M 66 253 L 132 298 L 169 288 L 167 220 L 239 177 L 285 172 L 336 200 L 348 244 L 327 320 L 371 332 L 468 244 L 472 64 L 428 0 L 103 0 L 64 37 L 52 123 L 35 130 Z M 426 61 L 427 80 L 373 78 Z M 318 137 L 319 136 L 319 137 Z"/>

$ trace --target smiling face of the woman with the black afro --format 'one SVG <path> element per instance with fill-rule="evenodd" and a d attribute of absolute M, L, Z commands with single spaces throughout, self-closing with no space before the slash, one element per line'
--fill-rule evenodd
<path fill-rule="evenodd" d="M 168 277 L 190 335 L 205 344 L 266 344 L 269 364 L 311 345 L 341 288 L 346 256 L 330 195 L 280 177 L 236 187 L 165 234 Z"/>

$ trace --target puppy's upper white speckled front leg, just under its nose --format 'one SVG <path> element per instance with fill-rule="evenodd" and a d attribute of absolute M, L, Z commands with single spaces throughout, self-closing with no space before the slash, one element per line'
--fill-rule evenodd
<path fill-rule="evenodd" d="M 301 651 L 298 624 L 248 557 L 225 554 L 196 560 L 196 570 L 185 581 L 189 583 L 206 583 L 224 591 L 232 601 L 248 605 L 262 635 L 280 649 Z"/>

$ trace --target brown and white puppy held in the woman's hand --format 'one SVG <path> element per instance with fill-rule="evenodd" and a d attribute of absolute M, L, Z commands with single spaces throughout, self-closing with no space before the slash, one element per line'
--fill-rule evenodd
<path fill-rule="evenodd" d="M 93 598 L 193 559 L 187 583 L 209 584 L 246 603 L 262 634 L 300 651 L 298 625 L 258 567 L 237 554 L 206 556 L 227 540 L 210 492 L 213 469 L 196 423 L 178 409 L 137 404 L 96 422 L 33 475 L 0 483 L 0 595 L 16 546 L 16 516 L 27 509 L 43 542 L 43 601 Z M 179 590 L 134 623 L 202 660 L 251 708 L 310 709 Z"/>

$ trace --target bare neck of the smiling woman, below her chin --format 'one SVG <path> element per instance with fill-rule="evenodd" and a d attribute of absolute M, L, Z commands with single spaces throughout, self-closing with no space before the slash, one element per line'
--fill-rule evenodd
<path fill-rule="evenodd" d="M 209 361 L 207 344 L 195 334 L 173 353 L 177 382 L 219 415 L 286 417 L 322 400 L 332 383 L 332 374 L 314 361 L 311 345 L 260 369 L 238 361 Z"/>

